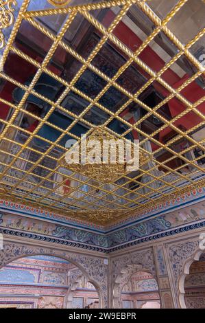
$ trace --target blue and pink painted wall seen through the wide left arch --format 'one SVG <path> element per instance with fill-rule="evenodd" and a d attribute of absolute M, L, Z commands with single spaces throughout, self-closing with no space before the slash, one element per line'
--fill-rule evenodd
<path fill-rule="evenodd" d="M 53 256 L 20 258 L 5 265 L 0 269 L 0 293 L 7 298 L 2 307 L 62 308 L 71 267 L 68 261 Z M 21 296 L 27 298 L 21 302 Z"/>

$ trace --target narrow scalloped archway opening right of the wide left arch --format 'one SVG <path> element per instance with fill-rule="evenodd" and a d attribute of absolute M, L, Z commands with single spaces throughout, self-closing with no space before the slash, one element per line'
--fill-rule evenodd
<path fill-rule="evenodd" d="M 114 282 L 114 309 L 159 308 L 156 278 L 141 265 L 126 265 Z"/>

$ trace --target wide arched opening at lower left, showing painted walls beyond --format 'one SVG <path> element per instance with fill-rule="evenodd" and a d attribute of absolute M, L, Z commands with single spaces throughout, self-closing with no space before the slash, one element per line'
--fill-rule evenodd
<path fill-rule="evenodd" d="M 99 304 L 98 292 L 86 273 L 69 260 L 45 254 L 18 258 L 0 269 L 0 308 L 64 308 L 77 278 L 79 287 L 71 308 Z"/>

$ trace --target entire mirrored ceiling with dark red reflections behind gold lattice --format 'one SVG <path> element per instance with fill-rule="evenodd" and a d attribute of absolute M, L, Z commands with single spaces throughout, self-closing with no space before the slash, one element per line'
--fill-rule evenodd
<path fill-rule="evenodd" d="M 5 3 L 2 198 L 112 223 L 204 185 L 204 1 Z M 64 163 L 105 133 L 139 140 L 138 170 Z"/>

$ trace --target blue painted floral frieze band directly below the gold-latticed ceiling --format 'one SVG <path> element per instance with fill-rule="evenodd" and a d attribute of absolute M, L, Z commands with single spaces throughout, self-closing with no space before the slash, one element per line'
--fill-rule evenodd
<path fill-rule="evenodd" d="M 176 210 L 171 213 L 167 213 L 162 216 L 158 216 L 154 219 L 143 221 L 136 225 L 131 225 L 125 229 L 114 231 L 110 234 L 97 234 L 94 232 L 80 230 L 74 227 L 68 227 L 65 225 L 56 225 L 56 223 L 48 223 L 36 219 L 27 218 L 25 216 L 19 216 L 16 214 L 0 214 L 0 230 L 6 234 L 15 234 L 13 231 L 18 230 L 20 232 L 29 232 L 29 238 L 41 237 L 53 237 L 58 241 L 65 241 L 65 243 L 75 243 L 78 247 L 96 247 L 97 251 L 112 252 L 123 245 L 128 246 L 129 243 L 134 241 L 141 241 L 143 238 L 152 238 L 156 236 L 160 238 L 169 234 L 169 230 L 174 230 L 179 226 L 183 232 L 186 230 L 193 230 L 193 226 L 190 223 L 196 223 L 199 226 L 205 226 L 205 202 L 197 203 L 193 206 Z M 199 221 L 202 221 L 201 223 Z M 185 225 L 188 225 L 187 227 Z M 184 226 L 184 227 L 183 227 Z M 2 229 L 1 229 L 2 228 Z M 2 231 L 4 229 L 4 231 Z M 7 231 L 6 231 L 6 230 Z M 16 232 L 16 231 L 15 231 Z M 176 234 L 171 232 L 170 234 Z M 48 239 L 48 238 L 47 238 Z M 59 240 L 60 239 L 60 240 Z M 55 241 L 56 242 L 56 241 Z M 80 243 L 81 245 L 77 245 Z M 158 258 L 160 258 L 160 250 L 158 250 Z M 162 264 L 162 261 L 161 261 Z M 161 274 L 165 268 L 160 267 Z"/>

